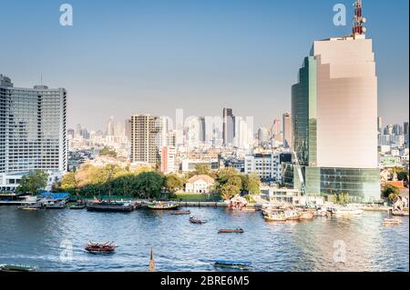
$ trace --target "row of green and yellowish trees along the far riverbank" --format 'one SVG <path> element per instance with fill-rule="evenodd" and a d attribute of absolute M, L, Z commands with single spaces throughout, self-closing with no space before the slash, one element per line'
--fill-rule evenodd
<path fill-rule="evenodd" d="M 191 175 L 210 175 L 216 180 L 212 190 L 222 198 L 246 191 L 259 194 L 260 179 L 257 175 L 240 175 L 233 168 L 223 168 L 217 172 L 207 171 L 202 165 L 193 173 L 180 177 L 176 174 L 162 175 L 151 168 L 141 168 L 130 172 L 117 165 L 96 167 L 83 165 L 75 172 L 67 173 L 62 181 L 54 186 L 54 191 L 65 191 L 72 195 L 127 195 L 138 198 L 159 198 L 162 193 L 172 195 L 183 189 Z"/>

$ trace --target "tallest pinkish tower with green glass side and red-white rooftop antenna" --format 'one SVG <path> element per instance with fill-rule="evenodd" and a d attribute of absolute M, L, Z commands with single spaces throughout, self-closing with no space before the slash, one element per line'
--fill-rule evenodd
<path fill-rule="evenodd" d="M 307 195 L 348 193 L 380 199 L 377 168 L 377 77 L 361 1 L 354 34 L 315 41 L 292 86 L 294 184 Z"/>

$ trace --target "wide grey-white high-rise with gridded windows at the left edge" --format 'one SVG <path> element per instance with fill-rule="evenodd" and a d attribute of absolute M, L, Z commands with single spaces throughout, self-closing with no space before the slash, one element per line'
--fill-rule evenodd
<path fill-rule="evenodd" d="M 17 88 L 0 75 L 0 190 L 13 191 L 32 170 L 67 170 L 64 88 Z"/>

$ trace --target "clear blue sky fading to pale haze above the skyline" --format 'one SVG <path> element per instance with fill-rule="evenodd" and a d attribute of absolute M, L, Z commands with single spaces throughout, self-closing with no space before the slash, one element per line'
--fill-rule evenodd
<path fill-rule="evenodd" d="M 314 40 L 348 35 L 354 0 L 0 0 L 0 74 L 17 87 L 68 91 L 67 126 L 105 129 L 149 113 L 253 116 L 291 111 L 291 86 Z M 409 1 L 364 0 L 379 115 L 409 119 Z M 62 26 L 63 3 L 73 6 Z M 333 5 L 347 25 L 333 25 Z"/>

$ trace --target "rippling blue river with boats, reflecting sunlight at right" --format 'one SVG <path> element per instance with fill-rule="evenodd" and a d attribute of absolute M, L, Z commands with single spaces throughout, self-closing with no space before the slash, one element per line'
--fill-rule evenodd
<path fill-rule="evenodd" d="M 0 207 L 0 264 L 35 265 L 39 271 L 147 271 L 154 249 L 158 271 L 219 271 L 214 259 L 251 262 L 251 271 L 409 271 L 408 217 L 384 226 L 387 214 L 364 212 L 353 218 L 317 217 L 274 224 L 260 212 L 190 208 L 207 220 L 193 225 L 189 215 L 137 210 L 23 211 Z M 242 227 L 243 234 L 218 234 Z M 111 255 L 84 250 L 88 240 L 113 240 Z"/>

